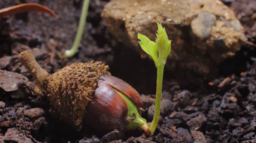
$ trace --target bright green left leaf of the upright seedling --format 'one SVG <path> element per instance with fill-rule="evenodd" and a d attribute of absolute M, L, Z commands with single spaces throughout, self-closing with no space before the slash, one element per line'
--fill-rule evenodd
<path fill-rule="evenodd" d="M 155 42 L 151 41 L 149 38 L 142 34 L 138 34 L 138 39 L 140 39 L 139 44 L 142 50 L 149 54 L 153 58 L 155 65 L 158 66 L 159 64 Z"/>

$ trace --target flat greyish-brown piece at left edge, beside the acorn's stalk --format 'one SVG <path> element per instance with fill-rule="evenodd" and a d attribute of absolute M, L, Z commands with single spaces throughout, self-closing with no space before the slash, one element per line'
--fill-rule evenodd
<path fill-rule="evenodd" d="M 21 74 L 0 70 L 0 88 L 6 92 L 18 90 L 19 87 L 25 85 L 28 82 L 28 78 Z"/>

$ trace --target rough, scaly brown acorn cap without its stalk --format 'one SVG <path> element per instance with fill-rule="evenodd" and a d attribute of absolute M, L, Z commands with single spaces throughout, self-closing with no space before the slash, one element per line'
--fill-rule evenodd
<path fill-rule="evenodd" d="M 47 77 L 44 90 L 62 120 L 77 130 L 82 128 L 86 106 L 92 99 L 99 77 L 110 75 L 108 69 L 99 61 L 72 63 Z"/>

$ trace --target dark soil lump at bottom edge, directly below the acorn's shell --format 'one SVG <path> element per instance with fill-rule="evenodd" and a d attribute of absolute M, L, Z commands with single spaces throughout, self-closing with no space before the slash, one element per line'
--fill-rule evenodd
<path fill-rule="evenodd" d="M 124 134 L 119 130 L 111 131 L 101 138 L 102 143 L 112 142 L 113 140 L 119 140 L 124 137 Z"/>

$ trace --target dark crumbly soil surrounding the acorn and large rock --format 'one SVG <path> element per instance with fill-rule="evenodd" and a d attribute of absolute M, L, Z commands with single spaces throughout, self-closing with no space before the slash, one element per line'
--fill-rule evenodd
<path fill-rule="evenodd" d="M 91 0 L 82 44 L 72 58 L 59 55 L 73 44 L 82 0 L 1 0 L 0 8 L 26 2 L 48 6 L 60 19 L 36 12 L 0 19 L 0 143 L 256 142 L 256 50 L 247 44 L 220 64 L 219 79 L 202 85 L 206 88 L 191 90 L 165 71 L 161 119 L 153 136 L 141 135 L 140 130 L 115 130 L 106 135 L 86 127 L 74 130 L 50 114 L 44 97 L 34 94 L 34 79 L 19 63 L 18 53 L 31 49 L 49 73 L 72 62 L 109 64 L 112 75 L 143 94 L 148 108 L 143 117 L 148 121 L 153 117 L 156 69 L 151 60 L 141 59 L 112 38 L 101 18 L 107 1 Z M 223 2 L 234 10 L 247 38 L 256 44 L 256 1 Z"/>

